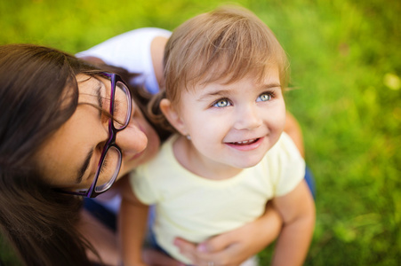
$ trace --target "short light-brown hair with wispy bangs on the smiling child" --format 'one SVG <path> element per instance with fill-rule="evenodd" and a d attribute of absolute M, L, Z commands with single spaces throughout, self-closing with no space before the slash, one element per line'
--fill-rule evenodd
<path fill-rule="evenodd" d="M 256 81 L 278 68 L 282 88 L 288 80 L 285 51 L 258 17 L 226 6 L 200 14 L 177 27 L 164 51 L 165 97 L 177 103 L 180 90 L 195 84 Z"/>

